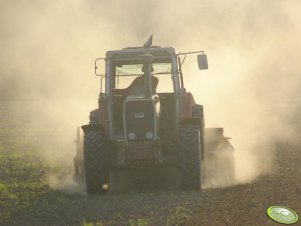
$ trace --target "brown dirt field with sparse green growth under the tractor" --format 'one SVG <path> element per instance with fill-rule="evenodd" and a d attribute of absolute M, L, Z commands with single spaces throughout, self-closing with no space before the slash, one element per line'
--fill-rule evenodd
<path fill-rule="evenodd" d="M 29 130 L 26 117 L 15 117 L 4 103 L 0 117 L 0 225 L 257 226 L 278 225 L 266 216 L 272 205 L 301 214 L 300 143 L 279 142 L 271 174 L 250 184 L 88 197 L 50 186 L 48 175 L 64 175 L 69 167 L 41 158 L 39 153 L 49 150 L 41 150 L 40 134 L 49 128 Z"/>

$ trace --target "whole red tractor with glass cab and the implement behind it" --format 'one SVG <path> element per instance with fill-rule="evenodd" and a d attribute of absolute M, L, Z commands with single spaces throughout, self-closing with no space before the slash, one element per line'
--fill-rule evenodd
<path fill-rule="evenodd" d="M 83 142 L 78 130 L 74 158 L 74 177 L 85 179 L 89 195 L 110 190 L 113 171 L 159 167 L 176 169 L 181 188 L 201 189 L 214 174 L 206 170 L 207 158 L 221 153 L 230 156 L 223 171 L 234 179 L 232 145 L 222 128 L 205 129 L 203 106 L 184 87 L 181 66 L 191 53 L 199 53 L 199 69 L 208 69 L 203 51 L 176 53 L 152 46 L 152 36 L 143 47 L 108 51 L 96 60 L 95 65 L 105 61 L 100 75 L 105 90 L 89 124 L 81 127 Z M 170 89 L 164 91 L 167 83 Z"/>

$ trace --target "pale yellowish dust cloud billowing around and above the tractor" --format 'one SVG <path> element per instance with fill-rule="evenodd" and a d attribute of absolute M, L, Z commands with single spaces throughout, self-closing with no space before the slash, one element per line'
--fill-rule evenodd
<path fill-rule="evenodd" d="M 150 34 L 154 45 L 205 50 L 209 70 L 198 71 L 195 56 L 185 62 L 186 89 L 206 126 L 233 138 L 238 182 L 251 182 L 273 169 L 277 142 L 298 139 L 300 9 L 297 0 L 4 0 L 0 99 L 46 128 L 41 155 L 71 172 L 76 127 L 97 107 L 95 58 Z"/>

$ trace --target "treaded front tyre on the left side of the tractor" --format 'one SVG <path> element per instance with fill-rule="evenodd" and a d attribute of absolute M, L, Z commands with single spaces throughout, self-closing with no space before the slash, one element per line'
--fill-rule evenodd
<path fill-rule="evenodd" d="M 97 114 L 98 111 L 90 113 L 90 124 L 96 124 Z M 108 156 L 103 128 L 99 124 L 99 127 L 86 129 L 84 131 L 84 165 L 88 195 L 104 194 L 108 191 L 109 170 L 107 164 Z"/>

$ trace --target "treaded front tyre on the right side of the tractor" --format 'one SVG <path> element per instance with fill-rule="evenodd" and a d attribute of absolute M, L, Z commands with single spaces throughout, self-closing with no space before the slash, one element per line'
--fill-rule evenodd
<path fill-rule="evenodd" d="M 181 188 L 201 189 L 201 136 L 199 126 L 187 125 L 180 128 L 178 167 Z"/>

